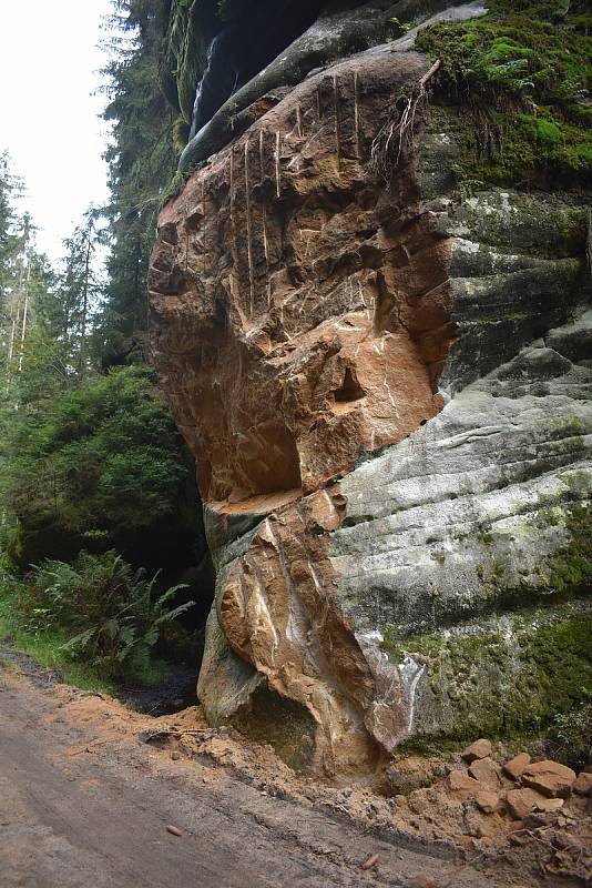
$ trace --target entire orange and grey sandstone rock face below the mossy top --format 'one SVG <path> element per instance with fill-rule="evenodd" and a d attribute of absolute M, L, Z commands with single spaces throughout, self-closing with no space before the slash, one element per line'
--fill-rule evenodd
<path fill-rule="evenodd" d="M 162 211 L 150 279 L 217 572 L 200 697 L 213 723 L 290 702 L 299 763 L 327 773 L 412 734 L 525 727 L 592 673 L 569 601 L 589 569 L 586 213 L 463 198 L 429 128 L 387 186 L 372 140 L 429 68 L 405 49 L 251 105 Z"/>

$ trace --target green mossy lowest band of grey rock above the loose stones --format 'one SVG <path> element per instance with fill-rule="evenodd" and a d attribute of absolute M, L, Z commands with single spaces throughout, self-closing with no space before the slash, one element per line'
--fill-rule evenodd
<path fill-rule="evenodd" d="M 426 666 L 412 748 L 508 738 L 542 730 L 586 698 L 592 605 L 523 609 L 405 639 L 389 628 L 384 647 L 395 662 Z"/>

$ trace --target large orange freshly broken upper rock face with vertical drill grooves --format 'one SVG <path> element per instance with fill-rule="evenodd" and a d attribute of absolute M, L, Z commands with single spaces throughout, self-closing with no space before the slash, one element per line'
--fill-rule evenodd
<path fill-rule="evenodd" d="M 440 411 L 450 244 L 411 167 L 387 191 L 367 165 L 423 69 L 381 54 L 307 79 L 162 211 L 152 346 L 204 501 L 312 492 Z"/>

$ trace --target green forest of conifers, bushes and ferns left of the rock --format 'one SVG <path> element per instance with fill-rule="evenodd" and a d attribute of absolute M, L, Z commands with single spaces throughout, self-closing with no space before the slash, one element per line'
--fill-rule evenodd
<path fill-rule="evenodd" d="M 211 603 L 193 463 L 147 364 L 147 263 L 177 159 L 167 18 L 161 0 L 113 0 L 110 202 L 59 263 L 0 155 L 0 630 L 115 679 L 190 647 Z"/>

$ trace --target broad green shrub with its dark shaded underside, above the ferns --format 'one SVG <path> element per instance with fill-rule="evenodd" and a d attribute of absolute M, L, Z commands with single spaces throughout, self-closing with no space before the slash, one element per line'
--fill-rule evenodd
<path fill-rule="evenodd" d="M 20 385 L 28 373 L 23 366 Z M 176 569 L 183 551 L 193 563 L 191 543 L 180 544 L 197 539 L 198 547 L 203 539 L 193 467 L 150 370 L 89 375 L 76 387 L 35 395 L 18 412 L 7 408 L 0 466 L 3 544 L 20 568 L 109 548 L 154 569 Z M 154 563 L 155 539 L 161 555 L 175 549 L 172 564 Z"/>

